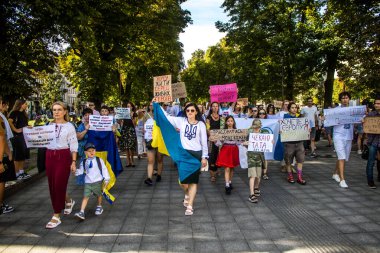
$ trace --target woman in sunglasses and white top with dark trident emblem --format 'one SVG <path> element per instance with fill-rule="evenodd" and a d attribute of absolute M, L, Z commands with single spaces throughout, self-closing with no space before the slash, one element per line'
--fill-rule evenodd
<path fill-rule="evenodd" d="M 202 163 L 202 167 L 207 165 L 208 147 L 206 125 L 203 122 L 202 114 L 196 104 L 189 103 L 184 109 L 185 117 L 172 117 L 165 113 L 169 122 L 179 130 L 181 144 L 191 155 Z M 197 194 L 197 184 L 199 181 L 200 168 L 185 180 L 181 181 L 181 187 L 185 191 L 184 206 L 187 208 L 185 215 L 192 215 L 195 195 Z"/>

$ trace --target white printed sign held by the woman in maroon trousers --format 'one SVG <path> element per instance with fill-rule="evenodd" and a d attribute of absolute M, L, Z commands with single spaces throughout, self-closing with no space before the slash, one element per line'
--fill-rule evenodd
<path fill-rule="evenodd" d="M 50 148 L 56 147 L 55 124 L 33 128 L 24 127 L 22 133 L 28 148 Z"/>

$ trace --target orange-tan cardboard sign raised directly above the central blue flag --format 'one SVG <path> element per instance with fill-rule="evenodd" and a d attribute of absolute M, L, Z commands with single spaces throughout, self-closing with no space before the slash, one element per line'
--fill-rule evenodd
<path fill-rule="evenodd" d="M 171 102 L 172 97 L 172 76 L 155 76 L 153 78 L 153 95 L 155 102 Z"/>

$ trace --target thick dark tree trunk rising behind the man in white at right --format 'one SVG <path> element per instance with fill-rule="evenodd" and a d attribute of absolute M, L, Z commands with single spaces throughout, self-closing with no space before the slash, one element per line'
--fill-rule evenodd
<path fill-rule="evenodd" d="M 336 65 L 338 62 L 338 52 L 332 51 L 328 52 L 326 55 L 326 64 L 327 64 L 327 77 L 324 83 L 325 95 L 323 107 L 328 108 L 332 105 L 332 95 L 334 91 L 334 74 L 336 70 Z"/>

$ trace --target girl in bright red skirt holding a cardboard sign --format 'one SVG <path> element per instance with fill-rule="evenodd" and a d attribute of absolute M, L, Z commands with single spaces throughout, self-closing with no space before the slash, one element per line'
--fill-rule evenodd
<path fill-rule="evenodd" d="M 236 123 L 233 116 L 227 116 L 225 122 L 224 129 L 236 129 Z M 221 144 L 221 142 L 218 141 L 217 145 L 218 144 Z M 239 148 L 237 144 L 237 141 L 224 141 L 216 161 L 217 166 L 224 167 L 226 194 L 231 194 L 231 190 L 233 189 L 232 177 L 234 175 L 234 168 L 240 164 Z"/>

